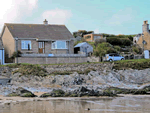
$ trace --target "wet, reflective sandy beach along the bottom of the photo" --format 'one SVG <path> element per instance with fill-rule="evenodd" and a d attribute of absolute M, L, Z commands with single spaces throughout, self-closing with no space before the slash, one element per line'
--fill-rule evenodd
<path fill-rule="evenodd" d="M 124 97 L 0 97 L 0 113 L 150 113 L 150 95 L 121 96 Z"/>

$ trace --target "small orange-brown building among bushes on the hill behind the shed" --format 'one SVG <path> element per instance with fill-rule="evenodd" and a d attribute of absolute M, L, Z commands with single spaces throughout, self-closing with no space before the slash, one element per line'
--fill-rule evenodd
<path fill-rule="evenodd" d="M 101 39 L 101 38 L 103 38 L 103 35 L 102 35 L 102 34 L 87 34 L 87 35 L 84 35 L 83 38 L 84 38 L 86 41 L 94 42 L 96 39 Z"/>

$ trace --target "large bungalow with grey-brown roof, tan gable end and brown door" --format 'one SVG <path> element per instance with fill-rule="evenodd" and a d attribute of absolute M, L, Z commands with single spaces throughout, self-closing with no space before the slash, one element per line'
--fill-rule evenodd
<path fill-rule="evenodd" d="M 6 52 L 6 61 L 17 50 L 22 53 L 22 57 L 19 57 L 20 63 L 34 64 L 56 63 L 54 62 L 56 60 L 60 63 L 60 59 L 48 61 L 46 57 L 56 54 L 74 54 L 74 37 L 66 26 L 48 24 L 46 19 L 44 24 L 5 23 L 1 38 Z M 13 62 L 16 62 L 16 59 Z"/>

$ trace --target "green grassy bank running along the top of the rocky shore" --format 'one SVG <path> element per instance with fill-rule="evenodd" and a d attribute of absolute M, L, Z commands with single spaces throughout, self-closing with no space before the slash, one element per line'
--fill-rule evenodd
<path fill-rule="evenodd" d="M 96 63 L 110 63 L 110 62 L 94 62 L 94 63 L 75 63 L 74 65 L 84 65 L 84 64 L 96 64 Z M 113 63 L 113 62 L 111 62 Z M 55 71 L 53 73 L 48 73 L 45 69 L 46 66 L 49 65 L 71 65 L 71 64 L 8 64 L 8 65 L 1 65 L 1 67 L 10 67 L 10 68 L 18 68 L 17 70 L 13 71 L 14 73 L 20 73 L 22 75 L 35 75 L 35 76 L 47 76 L 47 75 L 69 75 L 72 74 L 73 71 Z M 122 60 L 122 61 L 115 61 L 113 69 L 120 70 L 120 69 L 146 69 L 150 68 L 150 59 L 134 59 L 134 60 Z M 84 71 L 77 71 L 79 74 L 88 74 L 90 71 L 96 71 L 94 68 L 88 68 Z"/>

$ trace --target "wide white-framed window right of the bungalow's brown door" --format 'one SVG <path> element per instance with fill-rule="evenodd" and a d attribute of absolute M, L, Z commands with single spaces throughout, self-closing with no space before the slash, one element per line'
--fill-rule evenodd
<path fill-rule="evenodd" d="M 66 41 L 53 41 L 52 42 L 52 49 L 67 49 Z"/>

